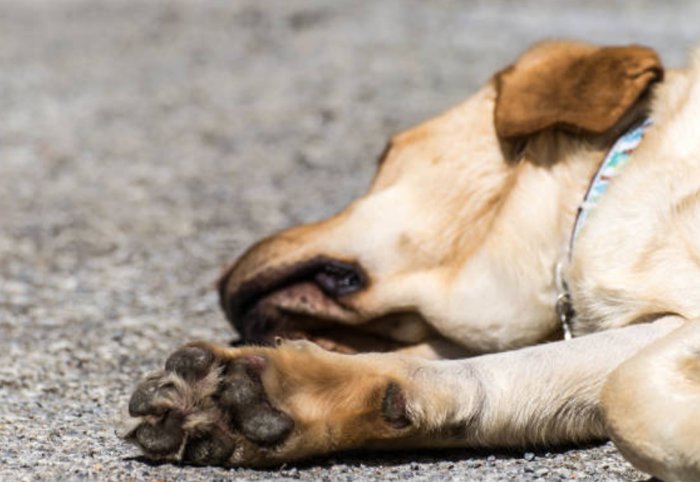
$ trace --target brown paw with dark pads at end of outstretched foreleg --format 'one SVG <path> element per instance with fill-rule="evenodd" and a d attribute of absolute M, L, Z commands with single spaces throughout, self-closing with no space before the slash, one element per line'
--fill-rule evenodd
<path fill-rule="evenodd" d="M 187 345 L 142 381 L 124 438 L 154 460 L 264 466 L 411 430 L 401 384 L 308 343 Z"/>

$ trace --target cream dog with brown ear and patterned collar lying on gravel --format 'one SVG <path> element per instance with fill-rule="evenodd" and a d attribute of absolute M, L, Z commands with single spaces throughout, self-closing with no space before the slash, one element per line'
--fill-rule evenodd
<path fill-rule="evenodd" d="M 535 45 L 391 139 L 367 194 L 219 282 L 243 345 L 143 380 L 150 458 L 611 438 L 700 480 L 700 52 Z"/>

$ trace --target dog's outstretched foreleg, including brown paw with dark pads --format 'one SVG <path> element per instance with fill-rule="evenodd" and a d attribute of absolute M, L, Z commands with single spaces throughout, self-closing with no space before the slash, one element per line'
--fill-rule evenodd
<path fill-rule="evenodd" d="M 269 465 L 357 447 L 526 446 L 605 435 L 599 392 L 677 322 L 460 361 L 340 355 L 308 342 L 193 344 L 131 397 L 155 459 Z"/>

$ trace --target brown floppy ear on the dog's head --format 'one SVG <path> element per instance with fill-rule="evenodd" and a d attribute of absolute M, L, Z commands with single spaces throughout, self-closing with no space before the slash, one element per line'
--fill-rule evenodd
<path fill-rule="evenodd" d="M 602 134 L 662 78 L 661 60 L 646 47 L 542 43 L 496 75 L 496 132 L 503 139 L 553 127 Z"/>

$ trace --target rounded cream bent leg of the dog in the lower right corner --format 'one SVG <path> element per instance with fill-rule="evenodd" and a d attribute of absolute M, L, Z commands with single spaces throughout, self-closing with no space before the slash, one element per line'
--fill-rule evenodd
<path fill-rule="evenodd" d="M 638 468 L 666 481 L 700 480 L 700 322 L 617 368 L 603 409 L 610 436 Z"/>

